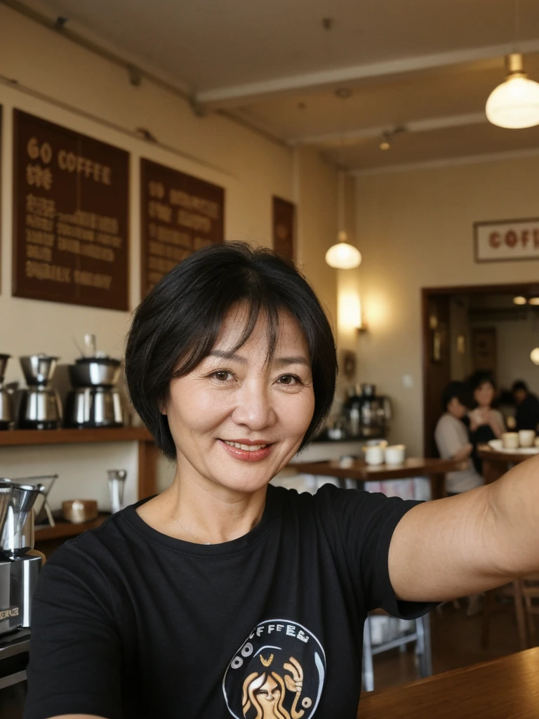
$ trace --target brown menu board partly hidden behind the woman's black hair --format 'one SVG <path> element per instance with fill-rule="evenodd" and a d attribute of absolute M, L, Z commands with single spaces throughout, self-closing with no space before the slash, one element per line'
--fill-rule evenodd
<path fill-rule="evenodd" d="M 141 292 L 178 262 L 224 239 L 224 188 L 150 160 L 140 161 Z"/>

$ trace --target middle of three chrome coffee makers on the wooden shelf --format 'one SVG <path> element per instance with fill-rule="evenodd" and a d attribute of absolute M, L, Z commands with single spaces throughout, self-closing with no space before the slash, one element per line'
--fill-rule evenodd
<path fill-rule="evenodd" d="M 50 384 L 57 359 L 43 353 L 19 357 L 28 385 L 20 398 L 19 429 L 57 429 L 62 423 L 60 397 Z"/>

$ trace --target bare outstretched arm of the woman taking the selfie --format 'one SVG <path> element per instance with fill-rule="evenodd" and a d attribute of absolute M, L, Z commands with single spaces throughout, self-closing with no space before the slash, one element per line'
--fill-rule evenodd
<path fill-rule="evenodd" d="M 402 517 L 390 544 L 400 600 L 476 594 L 539 570 L 539 457 L 500 480 L 426 502 Z"/>

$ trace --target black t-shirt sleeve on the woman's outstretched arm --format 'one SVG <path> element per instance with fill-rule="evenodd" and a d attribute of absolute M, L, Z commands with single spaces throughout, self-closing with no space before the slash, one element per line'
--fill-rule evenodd
<path fill-rule="evenodd" d="M 397 599 L 388 563 L 395 527 L 420 502 L 326 486 L 333 495 L 332 505 L 341 541 L 365 611 L 384 609 L 403 619 L 415 619 L 430 611 L 436 603 Z M 410 582 L 413 582 L 413 576 Z"/>

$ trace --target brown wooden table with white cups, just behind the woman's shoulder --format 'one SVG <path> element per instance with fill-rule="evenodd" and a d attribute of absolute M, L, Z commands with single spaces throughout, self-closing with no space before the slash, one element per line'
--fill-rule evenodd
<path fill-rule="evenodd" d="M 385 480 L 409 480 L 413 477 L 428 477 L 431 497 L 440 499 L 445 496 L 446 472 L 461 470 L 462 463 L 454 459 L 431 459 L 428 457 L 409 457 L 403 464 L 367 464 L 354 459 L 351 467 L 339 467 L 337 459 L 329 462 L 297 462 L 289 465 L 305 475 L 324 475 L 340 480 L 356 480 L 359 489 L 364 482 L 384 482 Z"/>

